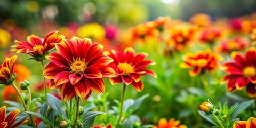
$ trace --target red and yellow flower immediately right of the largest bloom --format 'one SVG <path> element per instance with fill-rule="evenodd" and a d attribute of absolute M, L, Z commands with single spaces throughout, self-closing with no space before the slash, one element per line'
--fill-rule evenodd
<path fill-rule="evenodd" d="M 141 92 L 144 87 L 140 80 L 141 75 L 148 74 L 156 78 L 154 71 L 145 69 L 149 65 L 155 65 L 152 60 L 144 60 L 148 56 L 145 52 L 135 54 L 135 50 L 132 47 L 127 47 L 124 50 L 124 54 L 115 50 L 105 53 L 114 60 L 109 64 L 116 73 L 115 77 L 109 78 L 113 85 L 124 82 L 126 85 L 131 84 L 135 90 Z"/>

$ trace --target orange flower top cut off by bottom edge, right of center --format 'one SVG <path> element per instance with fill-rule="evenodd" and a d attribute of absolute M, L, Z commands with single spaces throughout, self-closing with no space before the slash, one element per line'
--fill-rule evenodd
<path fill-rule="evenodd" d="M 153 128 L 187 128 L 186 125 L 180 124 L 180 121 L 175 121 L 174 118 L 171 118 L 169 122 L 166 118 L 161 118 L 158 121 L 158 126 L 154 126 Z"/>

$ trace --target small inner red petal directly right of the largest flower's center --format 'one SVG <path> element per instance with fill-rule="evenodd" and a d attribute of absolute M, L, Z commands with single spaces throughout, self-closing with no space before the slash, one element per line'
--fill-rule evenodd
<path fill-rule="evenodd" d="M 101 71 L 93 66 L 87 67 L 84 71 L 84 76 L 87 78 L 102 78 Z"/>

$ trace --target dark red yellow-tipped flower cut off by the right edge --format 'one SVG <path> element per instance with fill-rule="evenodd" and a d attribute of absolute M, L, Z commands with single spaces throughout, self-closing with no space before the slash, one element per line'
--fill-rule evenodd
<path fill-rule="evenodd" d="M 246 50 L 245 56 L 239 52 L 232 52 L 231 57 L 235 62 L 223 63 L 223 81 L 228 81 L 227 91 L 242 90 L 246 87 L 250 98 L 256 97 L 256 49 L 250 47 Z"/>

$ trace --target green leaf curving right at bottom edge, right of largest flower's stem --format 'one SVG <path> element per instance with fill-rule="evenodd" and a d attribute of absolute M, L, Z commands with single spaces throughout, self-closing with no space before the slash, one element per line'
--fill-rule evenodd
<path fill-rule="evenodd" d="M 82 115 L 82 123 L 84 128 L 89 128 L 92 126 L 94 119 L 97 115 L 106 114 L 100 111 L 87 111 Z"/>

